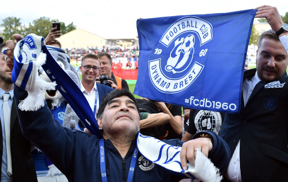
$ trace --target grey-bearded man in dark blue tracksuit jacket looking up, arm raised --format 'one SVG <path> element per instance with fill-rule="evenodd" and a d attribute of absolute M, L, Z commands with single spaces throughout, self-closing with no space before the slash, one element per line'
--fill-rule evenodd
<path fill-rule="evenodd" d="M 108 96 L 113 96 L 115 92 L 117 94 L 121 90 L 112 91 Z M 14 94 L 17 105 L 19 100 L 23 100 L 27 96 L 27 92 L 17 86 L 15 86 Z M 129 92 L 129 94 L 131 93 Z M 135 98 L 132 94 L 134 100 L 130 95 L 116 96 L 110 100 L 108 96 L 103 98 L 104 103 L 102 100 L 97 114 L 99 128 L 103 128 L 101 131 L 105 139 L 107 180 L 126 182 L 139 130 L 138 107 L 135 105 Z M 18 109 L 18 115 L 24 136 L 33 141 L 67 176 L 69 181 L 102 181 L 99 139 L 95 135 L 90 136 L 83 131 L 61 126 L 53 118 L 46 103 L 37 111 L 25 112 Z M 206 133 L 210 134 L 211 138 L 199 139 L 209 141 L 212 139 L 213 143 L 210 142 L 208 157 L 223 174 L 230 160 L 228 146 L 214 132 Z M 197 136 L 196 134 L 195 137 Z M 174 146 L 183 145 L 179 139 L 164 142 Z M 204 147 L 203 145 L 202 152 Z M 194 151 L 194 149 L 192 150 Z M 188 160 L 190 161 L 190 159 Z M 161 166 L 146 160 L 139 153 L 132 181 L 179 181 L 181 178 L 183 177 L 174 176 Z"/>

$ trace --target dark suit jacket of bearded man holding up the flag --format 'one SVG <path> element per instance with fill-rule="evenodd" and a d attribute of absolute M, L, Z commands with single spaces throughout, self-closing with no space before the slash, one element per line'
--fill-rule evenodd
<path fill-rule="evenodd" d="M 244 72 L 244 79 L 256 69 Z M 231 156 L 240 142 L 242 181 L 288 180 L 288 77 L 282 88 L 256 84 L 244 108 L 243 96 L 238 114 L 226 113 L 219 136 L 229 145 Z"/>

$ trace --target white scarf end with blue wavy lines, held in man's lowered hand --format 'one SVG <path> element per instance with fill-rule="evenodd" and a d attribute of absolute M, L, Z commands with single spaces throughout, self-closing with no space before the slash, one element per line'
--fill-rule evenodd
<path fill-rule="evenodd" d="M 137 137 L 137 147 L 146 159 L 168 169 L 173 174 L 184 174 L 188 178 L 196 178 L 203 182 L 222 180 L 219 169 L 201 152 L 201 149 L 196 149 L 195 166 L 187 162 L 187 170 L 183 170 L 180 162 L 181 147 L 166 144 L 140 133 Z"/>

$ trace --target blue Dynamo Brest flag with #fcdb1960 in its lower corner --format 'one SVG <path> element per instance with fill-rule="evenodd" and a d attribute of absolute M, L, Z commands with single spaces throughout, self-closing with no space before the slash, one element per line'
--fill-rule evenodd
<path fill-rule="evenodd" d="M 137 20 L 134 94 L 183 107 L 239 112 L 256 11 Z"/>

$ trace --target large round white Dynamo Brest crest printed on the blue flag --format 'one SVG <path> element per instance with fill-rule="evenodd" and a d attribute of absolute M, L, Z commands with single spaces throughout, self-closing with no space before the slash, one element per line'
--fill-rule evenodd
<path fill-rule="evenodd" d="M 212 25 L 187 16 L 174 22 L 163 34 L 149 58 L 149 76 L 156 89 L 178 93 L 187 89 L 201 74 Z"/>

